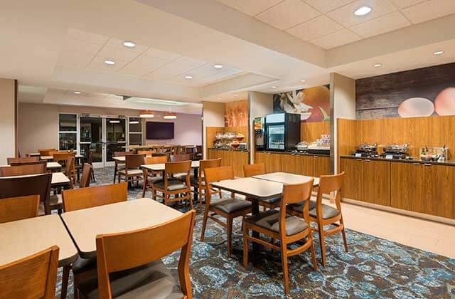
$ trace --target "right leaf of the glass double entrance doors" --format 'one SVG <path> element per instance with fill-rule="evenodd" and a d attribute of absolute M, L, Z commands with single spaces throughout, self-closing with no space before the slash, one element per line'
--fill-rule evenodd
<path fill-rule="evenodd" d="M 125 118 L 106 119 L 106 166 L 114 166 L 114 152 L 124 152 L 127 145 L 127 122 Z"/>

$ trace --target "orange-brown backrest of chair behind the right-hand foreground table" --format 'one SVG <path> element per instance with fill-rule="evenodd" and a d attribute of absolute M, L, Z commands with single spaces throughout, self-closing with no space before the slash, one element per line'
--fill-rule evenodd
<path fill-rule="evenodd" d="M 127 201 L 128 183 L 109 184 L 82 189 L 63 190 L 63 209 L 76 211 Z"/>

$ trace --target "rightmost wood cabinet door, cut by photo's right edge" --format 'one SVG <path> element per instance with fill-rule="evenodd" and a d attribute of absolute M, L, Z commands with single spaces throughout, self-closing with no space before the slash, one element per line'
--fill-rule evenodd
<path fill-rule="evenodd" d="M 455 167 L 424 164 L 422 172 L 423 212 L 455 219 Z"/>

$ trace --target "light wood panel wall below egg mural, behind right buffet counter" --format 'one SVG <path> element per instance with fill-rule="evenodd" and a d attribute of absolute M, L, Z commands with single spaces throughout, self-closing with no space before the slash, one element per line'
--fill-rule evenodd
<path fill-rule="evenodd" d="M 350 154 L 360 143 L 411 145 L 410 154 L 419 155 L 421 147 L 449 147 L 455 157 L 455 116 L 382 118 L 379 120 L 338 119 L 338 154 Z M 382 152 L 382 150 L 380 150 Z"/>

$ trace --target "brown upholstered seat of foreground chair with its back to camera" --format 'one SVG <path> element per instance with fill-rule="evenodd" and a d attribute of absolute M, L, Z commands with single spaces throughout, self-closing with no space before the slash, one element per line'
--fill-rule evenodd
<path fill-rule="evenodd" d="M 180 285 L 161 260 L 109 274 L 112 298 L 183 298 Z M 98 298 L 97 276 L 79 283 L 87 299 Z"/>

